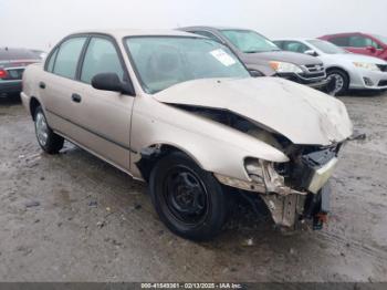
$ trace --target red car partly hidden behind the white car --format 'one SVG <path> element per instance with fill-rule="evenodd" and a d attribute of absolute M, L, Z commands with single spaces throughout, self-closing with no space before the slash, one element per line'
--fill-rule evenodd
<path fill-rule="evenodd" d="M 376 56 L 387 61 L 387 38 L 360 32 L 321 37 L 347 51 Z"/>

